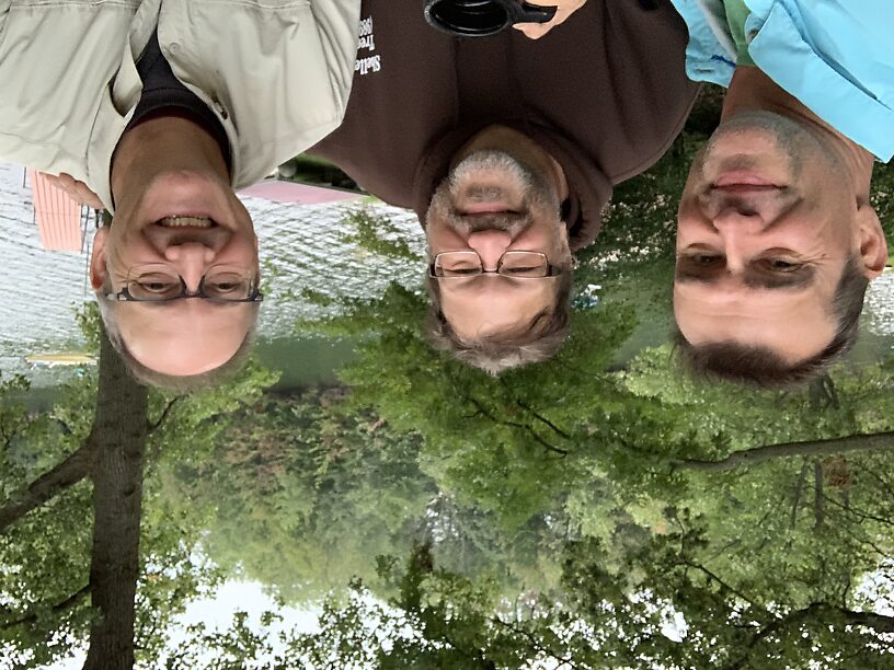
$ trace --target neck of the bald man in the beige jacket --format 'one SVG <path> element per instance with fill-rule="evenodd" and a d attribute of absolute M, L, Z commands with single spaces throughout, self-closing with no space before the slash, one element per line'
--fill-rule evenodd
<path fill-rule="evenodd" d="M 213 174 L 229 182 L 217 141 L 200 126 L 180 116 L 145 120 L 122 136 L 112 158 L 112 197 L 122 207 L 156 176 L 172 171 Z"/>

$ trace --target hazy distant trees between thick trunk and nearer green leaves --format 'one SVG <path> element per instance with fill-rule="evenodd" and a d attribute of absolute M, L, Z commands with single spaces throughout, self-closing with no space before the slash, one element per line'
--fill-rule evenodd
<path fill-rule="evenodd" d="M 313 602 L 352 575 L 371 577 L 373 556 L 408 546 L 436 493 L 420 475 L 414 436 L 368 412 L 333 411 L 337 396 L 261 400 L 174 483 L 183 505 L 216 509 L 205 539 L 214 561 L 286 601 Z"/>

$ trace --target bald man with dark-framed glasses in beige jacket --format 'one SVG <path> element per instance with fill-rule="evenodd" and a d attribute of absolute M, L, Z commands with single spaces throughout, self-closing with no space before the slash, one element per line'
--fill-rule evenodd
<path fill-rule="evenodd" d="M 244 357 L 257 240 L 234 189 L 332 130 L 357 0 L 0 0 L 0 159 L 114 212 L 90 265 L 141 381 L 205 385 Z"/>

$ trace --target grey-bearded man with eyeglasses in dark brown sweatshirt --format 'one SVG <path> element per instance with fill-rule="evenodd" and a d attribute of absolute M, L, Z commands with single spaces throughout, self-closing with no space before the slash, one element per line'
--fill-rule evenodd
<path fill-rule="evenodd" d="M 612 185 L 664 153 L 697 92 L 669 3 L 538 3 L 558 5 L 561 25 L 458 39 L 417 0 L 365 0 L 345 119 L 312 149 L 416 211 L 429 337 L 491 373 L 559 348 L 572 251 L 598 232 Z"/>

